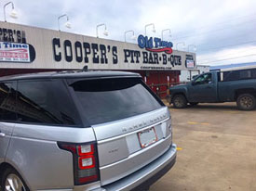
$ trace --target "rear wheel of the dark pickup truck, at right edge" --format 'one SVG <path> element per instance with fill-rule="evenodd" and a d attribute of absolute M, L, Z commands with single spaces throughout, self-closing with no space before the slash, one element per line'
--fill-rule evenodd
<path fill-rule="evenodd" d="M 241 110 L 252 110 L 256 106 L 255 96 L 250 94 L 240 95 L 237 97 L 236 105 Z"/>

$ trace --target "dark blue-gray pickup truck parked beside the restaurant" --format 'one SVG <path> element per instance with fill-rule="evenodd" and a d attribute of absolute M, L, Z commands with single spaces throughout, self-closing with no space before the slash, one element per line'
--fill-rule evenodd
<path fill-rule="evenodd" d="M 190 83 L 169 88 L 169 95 L 174 108 L 236 101 L 237 108 L 252 110 L 256 107 L 256 69 L 203 73 Z"/>

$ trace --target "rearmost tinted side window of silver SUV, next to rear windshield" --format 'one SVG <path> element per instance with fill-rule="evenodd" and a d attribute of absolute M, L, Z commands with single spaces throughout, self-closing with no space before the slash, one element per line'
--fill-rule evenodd
<path fill-rule="evenodd" d="M 74 104 L 61 81 L 19 82 L 19 121 L 39 124 L 79 125 Z"/>

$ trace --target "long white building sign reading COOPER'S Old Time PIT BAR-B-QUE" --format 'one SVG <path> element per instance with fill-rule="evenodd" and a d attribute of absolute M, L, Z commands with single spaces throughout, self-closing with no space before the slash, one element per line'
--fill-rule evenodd
<path fill-rule="evenodd" d="M 157 37 L 139 35 L 136 45 L 6 22 L 0 24 L 4 26 L 0 30 L 1 68 L 75 70 L 88 66 L 92 70 L 186 70 L 186 63 L 192 63 L 191 60 L 195 63 L 195 54 L 172 50 L 171 42 Z"/>

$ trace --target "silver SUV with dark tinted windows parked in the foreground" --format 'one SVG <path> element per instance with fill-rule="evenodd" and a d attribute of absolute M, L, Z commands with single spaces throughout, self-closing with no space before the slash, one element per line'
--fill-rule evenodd
<path fill-rule="evenodd" d="M 139 74 L 0 79 L 3 191 L 147 190 L 175 159 L 168 108 Z"/>

